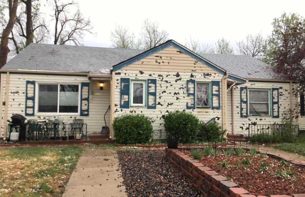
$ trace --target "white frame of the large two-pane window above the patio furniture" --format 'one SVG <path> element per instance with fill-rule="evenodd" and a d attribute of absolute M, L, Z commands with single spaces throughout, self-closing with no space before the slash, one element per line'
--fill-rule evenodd
<path fill-rule="evenodd" d="M 58 91 L 57 91 L 57 112 L 38 112 L 38 103 L 39 103 L 39 85 L 58 85 Z M 63 113 L 59 112 L 59 85 L 78 85 L 78 112 L 77 113 Z M 56 115 L 65 115 L 65 116 L 79 116 L 80 115 L 80 83 L 52 83 L 52 82 L 36 82 L 36 88 L 35 88 L 35 115 L 50 115 L 50 116 L 56 116 Z"/>

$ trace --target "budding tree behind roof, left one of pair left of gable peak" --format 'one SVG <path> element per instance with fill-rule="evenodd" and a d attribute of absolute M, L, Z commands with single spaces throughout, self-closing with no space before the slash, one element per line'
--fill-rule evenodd
<path fill-rule="evenodd" d="M 127 27 L 116 26 L 113 31 L 111 31 L 110 40 L 112 46 L 119 49 L 138 49 L 140 42 L 135 41 L 135 36 L 133 33 L 128 32 Z"/>

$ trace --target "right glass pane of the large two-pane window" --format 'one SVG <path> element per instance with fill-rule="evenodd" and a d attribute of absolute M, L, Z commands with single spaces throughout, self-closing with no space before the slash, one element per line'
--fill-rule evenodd
<path fill-rule="evenodd" d="M 78 112 L 78 85 L 59 85 L 59 112 Z"/>

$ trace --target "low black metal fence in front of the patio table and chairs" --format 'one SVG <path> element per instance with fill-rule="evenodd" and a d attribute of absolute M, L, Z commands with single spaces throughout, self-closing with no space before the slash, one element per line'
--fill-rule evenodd
<path fill-rule="evenodd" d="M 38 123 L 8 125 L 9 133 L 19 132 L 19 140 L 87 140 L 85 123 Z"/>

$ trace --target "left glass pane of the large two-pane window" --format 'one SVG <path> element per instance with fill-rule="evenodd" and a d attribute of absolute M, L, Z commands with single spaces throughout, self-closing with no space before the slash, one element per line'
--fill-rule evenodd
<path fill-rule="evenodd" d="M 38 112 L 57 112 L 58 85 L 39 84 Z"/>

